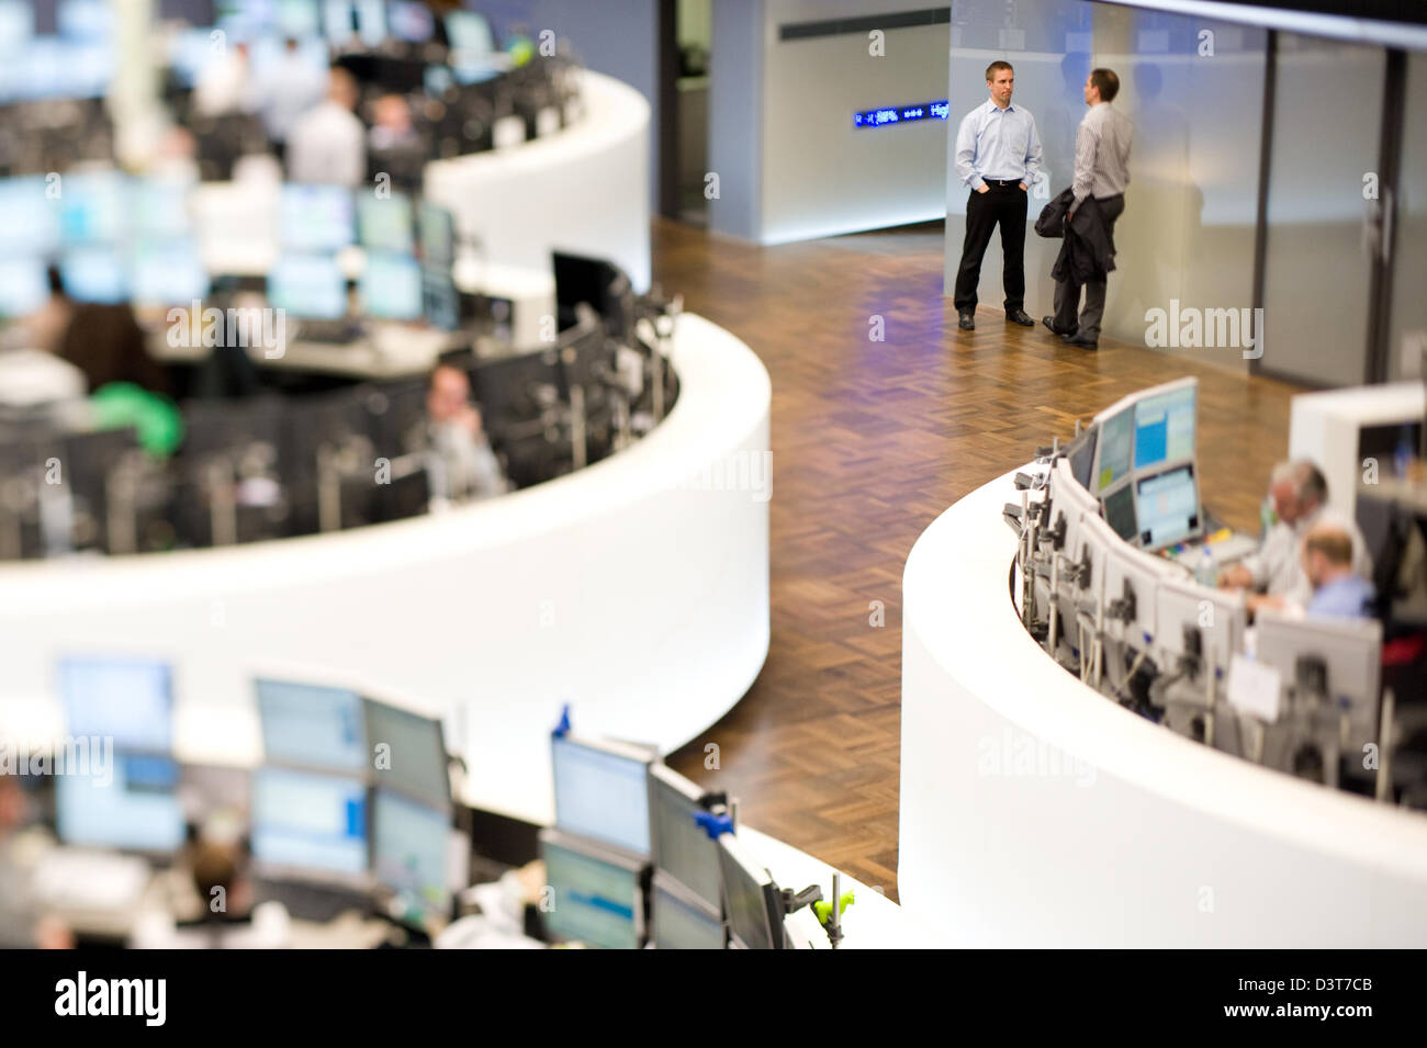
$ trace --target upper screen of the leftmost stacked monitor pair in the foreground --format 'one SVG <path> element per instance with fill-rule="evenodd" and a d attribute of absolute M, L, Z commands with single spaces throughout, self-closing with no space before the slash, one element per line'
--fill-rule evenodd
<path fill-rule="evenodd" d="M 73 736 L 167 754 L 173 749 L 173 670 L 158 659 L 68 656 L 59 663 L 60 704 Z"/>

